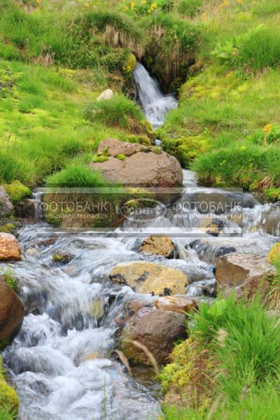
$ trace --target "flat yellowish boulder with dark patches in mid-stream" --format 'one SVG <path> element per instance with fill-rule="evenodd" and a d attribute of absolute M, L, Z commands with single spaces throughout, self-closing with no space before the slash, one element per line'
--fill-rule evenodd
<path fill-rule="evenodd" d="M 111 269 L 110 279 L 130 286 L 137 293 L 153 295 L 183 295 L 188 278 L 177 269 L 154 262 L 123 262 Z"/>

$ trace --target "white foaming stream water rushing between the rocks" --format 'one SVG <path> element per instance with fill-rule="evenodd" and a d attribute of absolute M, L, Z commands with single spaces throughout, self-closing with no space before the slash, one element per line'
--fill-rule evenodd
<path fill-rule="evenodd" d="M 141 67 L 138 66 L 138 70 L 141 71 Z M 142 84 L 139 79 L 139 94 L 150 87 L 157 91 L 155 80 L 151 80 L 147 84 L 144 79 Z M 153 108 L 153 113 L 155 120 L 163 118 L 162 111 L 158 113 Z M 177 205 L 199 193 L 207 194 L 212 200 L 232 196 L 232 192 L 221 190 L 217 198 L 217 190 L 197 186 L 193 172 L 183 174 L 186 187 Z M 50 232 L 49 237 L 43 239 L 40 232 L 48 229 L 46 223 L 22 228 L 18 234 L 22 261 L 15 262 L 12 269 L 19 279 L 27 315 L 20 334 L 3 353 L 3 361 L 20 395 L 20 419 L 157 418 L 160 404 L 151 375 L 147 379 L 147 370 L 141 372 L 141 367 L 137 367 L 129 377 L 113 353 L 115 319 L 125 302 L 132 297 L 153 302 L 155 297 L 139 295 L 128 286 L 116 285 L 109 280 L 109 270 L 119 262 L 131 260 L 160 262 L 187 274 L 191 284 L 186 294 L 214 295 L 213 269 L 218 255 L 230 251 L 229 248 L 267 254 L 280 233 L 279 211 L 276 204 L 261 204 L 246 195 L 243 207 L 232 209 L 235 215 L 244 214 L 243 237 L 235 236 L 241 231 L 236 219 L 225 221 L 219 237 L 201 237 L 204 225 L 195 208 L 187 214 L 197 217 L 174 218 L 174 207 L 169 207 L 160 221 L 141 227 L 133 225 L 132 221 L 125 223 L 125 228 L 134 226 L 142 233 L 167 232 L 168 235 L 171 232 L 180 254 L 179 259 L 173 260 L 139 253 L 140 239 L 122 237 L 123 228 L 117 230 L 120 237 L 116 238 L 105 235 L 54 238 Z M 71 255 L 71 260 L 57 265 L 52 262 L 52 255 L 57 252 Z M 2 264 L 1 271 L 7 267 L 10 265 Z"/>

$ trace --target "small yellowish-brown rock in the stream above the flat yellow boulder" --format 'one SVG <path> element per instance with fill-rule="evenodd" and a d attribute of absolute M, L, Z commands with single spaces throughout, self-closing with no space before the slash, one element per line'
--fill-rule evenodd
<path fill-rule="evenodd" d="M 167 236 L 148 237 L 142 242 L 140 251 L 143 253 L 162 255 L 165 258 L 179 258 L 179 251 L 176 244 Z"/>

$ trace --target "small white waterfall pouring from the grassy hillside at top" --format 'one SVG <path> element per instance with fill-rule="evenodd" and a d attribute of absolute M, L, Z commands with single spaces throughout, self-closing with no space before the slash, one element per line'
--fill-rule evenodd
<path fill-rule="evenodd" d="M 160 127 L 165 122 L 166 113 L 176 109 L 178 102 L 172 94 L 162 94 L 158 80 L 152 78 L 142 64 L 137 63 L 133 77 L 147 120 L 154 128 Z"/>

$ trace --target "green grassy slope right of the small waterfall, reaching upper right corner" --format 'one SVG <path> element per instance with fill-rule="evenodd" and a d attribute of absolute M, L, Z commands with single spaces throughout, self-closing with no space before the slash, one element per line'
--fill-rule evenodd
<path fill-rule="evenodd" d="M 169 113 L 160 130 L 165 148 L 183 165 L 193 167 L 204 182 L 265 190 L 279 187 L 279 2 L 201 3 L 193 18 L 202 33 L 201 69 L 181 87 L 179 109 Z M 228 59 L 210 54 L 219 43 L 231 48 L 237 39 L 233 44 L 238 44 L 241 34 L 260 24 L 267 30 L 260 29 L 239 50 L 231 49 L 225 54 Z M 272 128 L 266 136 L 267 124 Z"/>

